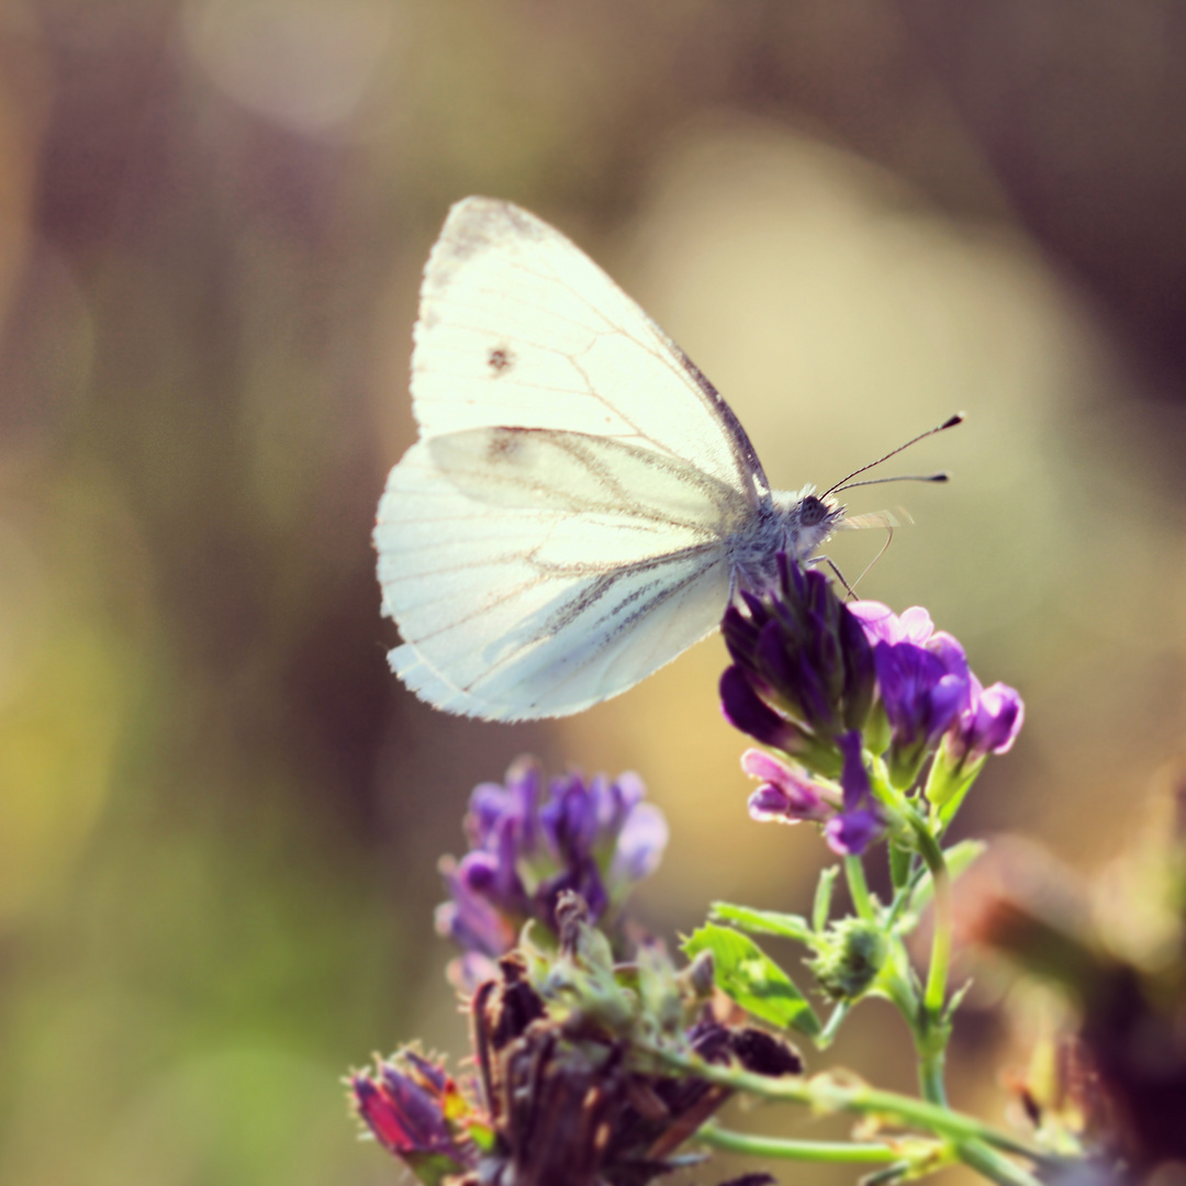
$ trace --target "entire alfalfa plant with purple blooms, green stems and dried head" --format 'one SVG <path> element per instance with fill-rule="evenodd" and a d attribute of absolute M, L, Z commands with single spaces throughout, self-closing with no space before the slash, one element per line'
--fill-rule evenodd
<path fill-rule="evenodd" d="M 442 860 L 436 913 L 458 948 L 449 976 L 471 1059 L 449 1072 L 404 1045 L 350 1079 L 366 1131 L 428 1186 L 644 1186 L 716 1148 L 763 1167 L 850 1161 L 876 1182 L 955 1163 L 1001 1186 L 1089 1165 L 1120 1173 L 1090 1131 L 1063 1126 L 1056 1141 L 946 1099 L 962 1000 L 949 983 L 952 885 L 984 847 L 946 833 L 988 759 L 1016 739 L 1021 697 L 983 686 L 925 610 L 846 604 L 822 572 L 778 563 L 774 588 L 742 593 L 725 616 L 720 701 L 755 742 L 741 754 L 758 783 L 750 816 L 814 825 L 825 842 L 814 900 L 802 912 L 715 903 L 672 955 L 631 912 L 669 839 L 636 776 L 549 779 L 522 759 L 476 788 L 467 850 Z M 879 852 L 888 888 L 874 893 L 866 866 Z M 920 952 L 907 940 L 924 919 Z M 766 936 L 799 944 L 802 964 L 772 958 Z M 917 1095 L 808 1066 L 874 996 L 911 1035 Z M 738 1093 L 859 1126 L 849 1142 L 733 1133 L 718 1112 Z M 741 1180 L 773 1179 L 761 1168 Z"/>

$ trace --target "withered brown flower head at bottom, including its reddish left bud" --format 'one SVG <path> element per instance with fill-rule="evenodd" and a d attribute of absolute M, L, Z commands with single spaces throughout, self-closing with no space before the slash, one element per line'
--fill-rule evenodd
<path fill-rule="evenodd" d="M 677 1149 L 729 1096 L 659 1052 L 803 1070 L 773 1034 L 716 1021 L 695 965 L 676 971 L 657 944 L 614 964 L 572 892 L 557 916 L 559 950 L 523 945 L 474 993 L 471 1080 L 458 1089 L 414 1051 L 351 1079 L 368 1128 L 427 1186 L 645 1186 L 702 1160 Z"/>

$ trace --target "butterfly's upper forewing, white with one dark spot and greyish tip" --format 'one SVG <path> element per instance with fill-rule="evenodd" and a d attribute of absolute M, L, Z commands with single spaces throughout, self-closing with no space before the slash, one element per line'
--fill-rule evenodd
<path fill-rule="evenodd" d="M 509 426 L 612 436 L 753 499 L 766 479 L 716 389 L 563 235 L 466 198 L 428 259 L 412 356 L 421 434 Z"/>

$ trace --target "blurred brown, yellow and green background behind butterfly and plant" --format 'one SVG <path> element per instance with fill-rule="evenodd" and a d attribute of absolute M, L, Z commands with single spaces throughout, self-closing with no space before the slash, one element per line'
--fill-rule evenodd
<path fill-rule="evenodd" d="M 388 674 L 369 536 L 467 193 L 637 296 L 776 485 L 969 413 L 903 463 L 951 485 L 854 493 L 916 519 L 862 593 L 1027 700 L 961 831 L 1109 856 L 1186 723 L 1184 52 L 1172 0 L 7 0 L 0 1181 L 398 1180 L 338 1077 L 464 1052 L 435 861 L 524 750 L 643 774 L 662 933 L 806 905 L 719 639 L 531 727 Z M 997 1120 L 990 997 L 954 1091 Z M 839 1058 L 908 1089 L 905 1051 L 871 1005 Z"/>

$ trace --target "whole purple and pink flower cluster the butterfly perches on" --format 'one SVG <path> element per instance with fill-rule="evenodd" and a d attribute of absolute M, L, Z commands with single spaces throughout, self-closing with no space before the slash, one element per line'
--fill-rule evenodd
<path fill-rule="evenodd" d="M 860 854 L 885 833 L 893 797 L 890 788 L 879 790 L 884 802 L 874 797 L 866 753 L 907 795 L 938 753 L 925 793 L 939 806 L 971 785 L 988 753 L 1009 748 L 1021 699 L 1003 684 L 982 689 L 963 648 L 922 606 L 846 606 L 822 573 L 785 555 L 778 576 L 760 598 L 742 591 L 721 623 L 733 659 L 721 708 L 790 761 L 747 751 L 742 767 L 760 780 L 750 815 L 823 823 L 833 849 Z"/>

